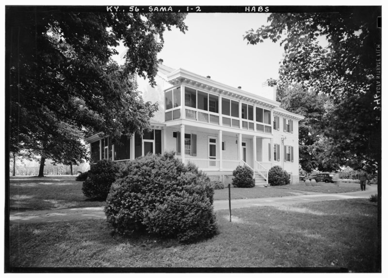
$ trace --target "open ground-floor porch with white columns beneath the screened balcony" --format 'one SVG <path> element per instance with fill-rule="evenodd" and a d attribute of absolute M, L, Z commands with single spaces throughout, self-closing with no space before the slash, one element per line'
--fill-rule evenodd
<path fill-rule="evenodd" d="M 193 163 L 212 180 L 229 183 L 233 170 L 239 165 L 247 165 L 254 171 L 258 185 L 267 184 L 268 170 L 272 167 L 273 136 L 232 127 L 214 127 L 190 120 L 166 123 L 164 149 L 175 151 L 182 162 Z"/>

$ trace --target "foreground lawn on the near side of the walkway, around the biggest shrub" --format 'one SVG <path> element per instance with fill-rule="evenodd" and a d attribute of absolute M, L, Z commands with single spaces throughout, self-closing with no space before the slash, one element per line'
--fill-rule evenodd
<path fill-rule="evenodd" d="M 196 244 L 112 236 L 104 220 L 11 225 L 13 267 L 345 267 L 380 272 L 376 203 L 366 199 L 217 212 Z M 168 271 L 168 270 L 167 270 Z M 279 269 L 280 271 L 280 269 Z"/>

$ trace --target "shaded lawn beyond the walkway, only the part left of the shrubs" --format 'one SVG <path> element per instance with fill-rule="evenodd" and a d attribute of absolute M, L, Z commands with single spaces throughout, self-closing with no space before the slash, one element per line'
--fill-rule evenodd
<path fill-rule="evenodd" d="M 10 177 L 10 210 L 48 210 L 103 206 L 105 202 L 87 201 L 82 182 L 76 175 Z"/>

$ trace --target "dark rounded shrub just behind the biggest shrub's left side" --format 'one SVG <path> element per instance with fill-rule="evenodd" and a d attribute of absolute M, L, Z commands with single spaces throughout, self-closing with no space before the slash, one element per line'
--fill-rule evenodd
<path fill-rule="evenodd" d="M 89 170 L 86 180 L 82 183 L 83 195 L 97 201 L 105 201 L 119 170 L 119 164 L 111 160 L 99 160 Z"/>

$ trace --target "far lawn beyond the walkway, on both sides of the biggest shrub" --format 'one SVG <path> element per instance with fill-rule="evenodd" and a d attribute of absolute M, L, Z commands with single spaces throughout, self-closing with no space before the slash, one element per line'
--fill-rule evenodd
<path fill-rule="evenodd" d="M 82 193 L 82 182 L 76 176 L 10 177 L 10 210 L 49 210 L 75 207 L 105 206 L 105 201 L 89 201 Z M 369 185 L 367 185 L 368 187 Z M 317 183 L 315 186 L 300 185 L 253 188 L 230 188 L 232 199 L 269 198 L 306 195 L 313 192 L 344 193 L 357 191 L 357 184 Z M 228 189 L 214 190 L 214 200 L 228 199 Z"/>

